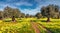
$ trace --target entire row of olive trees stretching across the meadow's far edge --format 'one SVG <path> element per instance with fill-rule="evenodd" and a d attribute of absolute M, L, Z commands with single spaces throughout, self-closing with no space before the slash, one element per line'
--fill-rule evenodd
<path fill-rule="evenodd" d="M 37 17 L 44 18 L 47 17 L 47 22 L 50 21 L 50 18 L 60 18 L 60 8 L 58 5 L 48 5 L 43 6 L 40 10 L 41 12 L 37 13 L 36 15 L 29 15 L 21 13 L 21 11 L 17 8 L 11 8 L 11 7 L 5 7 L 3 11 L 0 11 L 0 19 L 2 18 L 12 18 L 12 21 L 15 20 L 15 18 L 32 18 Z"/>

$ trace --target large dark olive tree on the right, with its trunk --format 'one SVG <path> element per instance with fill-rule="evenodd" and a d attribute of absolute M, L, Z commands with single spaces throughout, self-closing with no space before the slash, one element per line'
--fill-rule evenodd
<path fill-rule="evenodd" d="M 50 18 L 60 18 L 60 10 L 58 5 L 48 5 L 41 8 L 41 14 L 47 17 L 47 22 L 50 22 Z"/>

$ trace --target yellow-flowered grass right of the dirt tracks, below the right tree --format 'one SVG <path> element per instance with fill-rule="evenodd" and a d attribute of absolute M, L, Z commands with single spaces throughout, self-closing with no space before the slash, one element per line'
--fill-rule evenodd
<path fill-rule="evenodd" d="M 45 26 L 52 33 L 60 33 L 60 19 L 51 19 L 51 22 L 38 22 Z"/>

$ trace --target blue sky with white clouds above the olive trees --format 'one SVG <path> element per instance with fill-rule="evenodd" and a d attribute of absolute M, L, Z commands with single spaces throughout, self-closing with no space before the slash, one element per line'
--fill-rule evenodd
<path fill-rule="evenodd" d="M 60 6 L 60 0 L 0 0 L 0 10 L 6 6 L 18 8 L 22 13 L 35 15 L 40 12 L 42 6 L 56 4 Z"/>

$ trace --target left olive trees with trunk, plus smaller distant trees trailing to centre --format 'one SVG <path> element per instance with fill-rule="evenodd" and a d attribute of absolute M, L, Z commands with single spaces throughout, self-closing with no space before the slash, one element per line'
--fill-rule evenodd
<path fill-rule="evenodd" d="M 33 15 L 24 14 L 17 8 L 11 8 L 9 6 L 5 7 L 3 11 L 0 11 L 0 20 L 4 18 L 12 18 L 12 21 L 15 20 L 15 18 L 30 18 L 33 17 Z"/>

